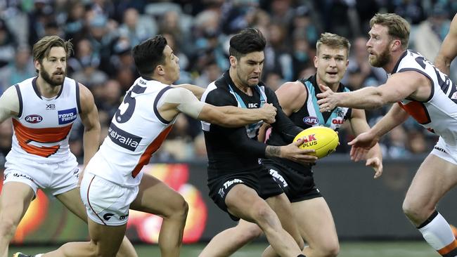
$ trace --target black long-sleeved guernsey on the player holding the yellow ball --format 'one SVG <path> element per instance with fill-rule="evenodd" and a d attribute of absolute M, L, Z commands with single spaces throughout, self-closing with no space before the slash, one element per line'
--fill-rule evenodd
<path fill-rule="evenodd" d="M 240 91 L 227 72 L 212 82 L 202 95 L 202 102 L 216 106 L 232 105 L 242 108 L 259 108 L 264 103 L 278 110 L 272 124 L 283 142 L 290 143 L 302 129 L 295 126 L 281 110 L 276 94 L 262 82 L 252 87 L 252 96 Z M 233 173 L 264 169 L 259 158 L 265 157 L 266 144 L 257 141 L 263 121 L 240 128 L 224 128 L 202 121 L 208 155 L 208 179 Z"/>

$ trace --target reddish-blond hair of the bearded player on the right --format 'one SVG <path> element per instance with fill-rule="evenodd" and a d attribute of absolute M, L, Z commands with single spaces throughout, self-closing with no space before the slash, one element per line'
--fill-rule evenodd
<path fill-rule="evenodd" d="M 370 27 L 373 27 L 375 24 L 387 27 L 389 36 L 399 39 L 401 48 L 408 48 L 411 26 L 400 15 L 396 13 L 376 13 L 370 20 Z"/>

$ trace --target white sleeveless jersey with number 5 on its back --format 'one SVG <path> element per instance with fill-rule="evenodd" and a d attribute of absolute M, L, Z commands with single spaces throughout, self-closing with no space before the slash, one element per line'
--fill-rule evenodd
<path fill-rule="evenodd" d="M 139 185 L 141 168 L 148 164 L 174 124 L 174 120 L 163 119 L 157 111 L 157 103 L 170 88 L 159 81 L 136 79 L 86 171 L 119 185 Z"/>

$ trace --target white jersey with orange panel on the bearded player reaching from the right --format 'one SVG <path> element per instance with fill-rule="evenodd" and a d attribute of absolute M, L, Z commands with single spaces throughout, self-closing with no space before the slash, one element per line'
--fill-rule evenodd
<path fill-rule="evenodd" d="M 432 62 L 407 50 L 392 73 L 416 71 L 432 81 L 432 93 L 425 102 L 406 98 L 399 105 L 425 129 L 441 136 L 447 145 L 457 145 L 457 87 Z"/>

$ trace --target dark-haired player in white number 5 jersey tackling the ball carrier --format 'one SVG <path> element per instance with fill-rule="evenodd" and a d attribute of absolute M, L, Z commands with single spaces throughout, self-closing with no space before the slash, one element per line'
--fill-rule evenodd
<path fill-rule="evenodd" d="M 81 183 L 91 241 L 67 243 L 43 256 L 115 256 L 127 228 L 129 209 L 161 216 L 162 256 L 179 256 L 188 204 L 165 183 L 140 172 L 167 137 L 176 116 L 184 112 L 230 127 L 275 120 L 273 105 L 253 110 L 216 107 L 195 97 L 202 95 L 203 88 L 171 86 L 179 79 L 179 58 L 161 35 L 135 46 L 132 54 L 141 77 L 127 91 Z"/>

